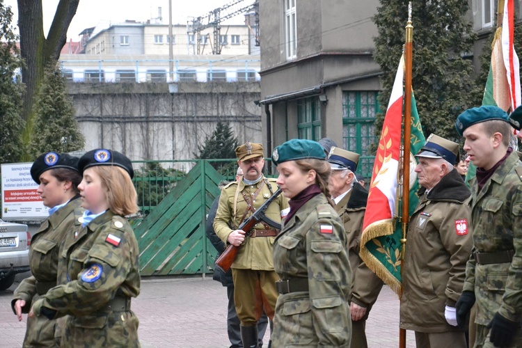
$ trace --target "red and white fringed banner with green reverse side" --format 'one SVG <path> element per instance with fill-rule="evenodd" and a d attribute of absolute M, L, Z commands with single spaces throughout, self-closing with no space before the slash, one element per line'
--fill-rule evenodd
<path fill-rule="evenodd" d="M 401 145 L 402 80 L 404 58 L 401 58 L 383 122 L 379 148 L 375 156 L 372 182 L 366 205 L 361 236 L 361 258 L 396 294 L 401 292 L 401 248 L 402 230 L 397 212 L 397 174 Z M 425 143 L 418 116 L 415 98 L 411 97 L 411 153 L 416 154 Z M 406 156 L 408 159 L 408 157 Z M 416 166 L 413 155 L 409 156 L 411 173 Z M 418 182 L 410 178 L 409 213 L 415 209 L 418 199 Z"/>

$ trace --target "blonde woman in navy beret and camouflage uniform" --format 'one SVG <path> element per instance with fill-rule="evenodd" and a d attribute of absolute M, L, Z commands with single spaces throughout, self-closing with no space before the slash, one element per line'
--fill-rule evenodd
<path fill-rule="evenodd" d="M 79 159 L 81 206 L 61 248 L 62 281 L 33 303 L 29 316 L 68 315 L 63 347 L 139 347 L 131 298 L 140 292 L 139 250 L 126 215 L 138 211 L 131 161 L 96 149 Z"/>

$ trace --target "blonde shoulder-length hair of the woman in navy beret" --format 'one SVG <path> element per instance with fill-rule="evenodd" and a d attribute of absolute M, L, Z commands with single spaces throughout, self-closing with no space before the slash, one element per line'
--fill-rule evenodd
<path fill-rule="evenodd" d="M 118 215 L 131 215 L 139 211 L 138 195 L 134 184 L 125 169 L 118 166 L 92 166 L 100 175 L 106 190 L 107 204 L 111 212 Z"/>

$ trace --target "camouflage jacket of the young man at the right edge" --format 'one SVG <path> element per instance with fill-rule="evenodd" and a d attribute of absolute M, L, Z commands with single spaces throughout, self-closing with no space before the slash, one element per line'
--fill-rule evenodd
<path fill-rule="evenodd" d="M 466 267 L 465 291 L 475 292 L 475 323 L 487 325 L 498 312 L 519 322 L 522 318 L 522 162 L 512 152 L 478 191 L 470 181 L 474 251 L 514 250 L 512 262 Z"/>

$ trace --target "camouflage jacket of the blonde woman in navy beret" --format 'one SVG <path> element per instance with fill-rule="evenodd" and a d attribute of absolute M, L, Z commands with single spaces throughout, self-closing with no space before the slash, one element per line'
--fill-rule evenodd
<path fill-rule="evenodd" d="M 70 315 L 62 343 L 65 347 L 139 347 L 138 319 L 130 310 L 107 309 L 115 296 L 140 292 L 139 249 L 127 219 L 110 210 L 86 227 L 77 220 L 61 250 L 58 285 L 33 306 Z"/>

